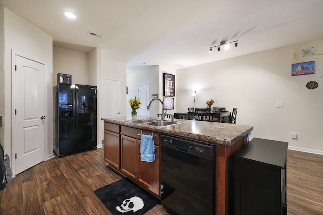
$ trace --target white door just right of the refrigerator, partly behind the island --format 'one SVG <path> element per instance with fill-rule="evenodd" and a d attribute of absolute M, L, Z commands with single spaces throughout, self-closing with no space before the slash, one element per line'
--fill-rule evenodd
<path fill-rule="evenodd" d="M 100 118 L 105 116 L 117 116 L 121 114 L 121 81 L 102 79 L 100 99 Z M 104 138 L 104 122 L 101 121 L 99 136 Z"/>

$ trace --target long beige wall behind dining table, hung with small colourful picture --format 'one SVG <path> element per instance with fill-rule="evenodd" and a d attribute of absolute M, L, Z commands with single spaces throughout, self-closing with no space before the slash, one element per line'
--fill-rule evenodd
<path fill-rule="evenodd" d="M 303 57 L 307 47 L 314 47 L 315 55 Z M 210 98 L 227 110 L 238 108 L 237 124 L 254 126 L 251 138 L 286 141 L 290 148 L 323 154 L 322 53 L 320 39 L 177 70 L 177 111 L 193 107 L 196 87 L 197 108 L 206 107 Z M 293 63 L 313 60 L 315 74 L 291 76 Z M 309 81 L 319 87 L 307 89 Z M 292 139 L 291 132 L 298 138 Z"/>

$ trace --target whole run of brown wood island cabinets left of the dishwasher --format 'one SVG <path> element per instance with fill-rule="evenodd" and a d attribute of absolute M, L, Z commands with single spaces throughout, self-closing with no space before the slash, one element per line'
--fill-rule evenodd
<path fill-rule="evenodd" d="M 140 159 L 141 134 L 153 135 L 155 160 Z M 156 132 L 104 123 L 104 160 L 110 167 L 137 182 L 160 198 L 160 134 Z"/>

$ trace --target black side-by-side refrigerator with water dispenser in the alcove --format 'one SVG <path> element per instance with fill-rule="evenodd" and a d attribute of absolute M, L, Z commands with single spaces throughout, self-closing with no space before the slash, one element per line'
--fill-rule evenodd
<path fill-rule="evenodd" d="M 57 157 L 96 149 L 96 86 L 59 83 L 53 97 L 53 151 Z"/>

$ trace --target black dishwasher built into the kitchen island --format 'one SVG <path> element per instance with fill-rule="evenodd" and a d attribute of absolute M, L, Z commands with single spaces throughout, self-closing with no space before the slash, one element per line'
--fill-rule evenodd
<path fill-rule="evenodd" d="M 214 214 L 215 146 L 161 135 L 161 204 L 177 214 Z"/>

